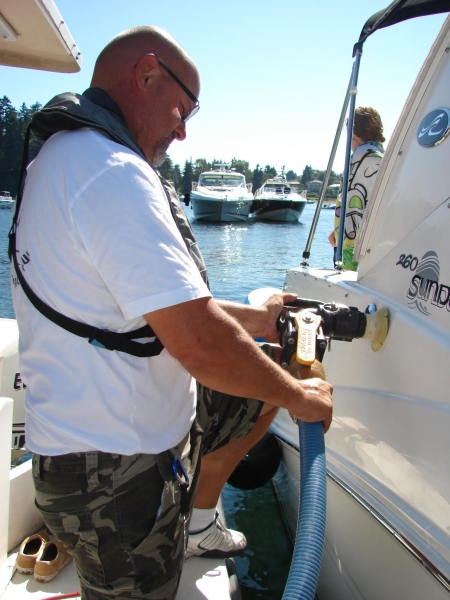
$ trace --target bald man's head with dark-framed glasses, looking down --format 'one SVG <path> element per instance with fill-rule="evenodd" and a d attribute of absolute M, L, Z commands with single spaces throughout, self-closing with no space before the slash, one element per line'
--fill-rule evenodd
<path fill-rule="evenodd" d="M 102 50 L 91 87 L 103 89 L 118 104 L 157 166 L 170 143 L 186 137 L 184 118 L 199 95 L 200 77 L 189 54 L 167 31 L 142 26 L 119 33 Z"/>

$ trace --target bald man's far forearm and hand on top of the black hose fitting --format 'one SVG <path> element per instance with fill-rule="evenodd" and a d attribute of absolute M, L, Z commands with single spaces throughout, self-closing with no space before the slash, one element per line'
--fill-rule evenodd
<path fill-rule="evenodd" d="M 273 294 L 262 306 L 250 306 L 249 304 L 238 304 L 216 300 L 217 304 L 228 315 L 236 319 L 238 323 L 251 335 L 261 337 L 268 342 L 279 342 L 280 332 L 277 330 L 277 320 L 283 306 L 297 298 L 296 294 Z"/>

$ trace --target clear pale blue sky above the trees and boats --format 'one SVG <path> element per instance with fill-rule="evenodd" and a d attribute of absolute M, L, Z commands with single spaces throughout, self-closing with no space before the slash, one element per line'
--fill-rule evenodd
<path fill-rule="evenodd" d="M 201 110 L 175 163 L 189 158 L 270 164 L 301 173 L 328 163 L 365 21 L 389 0 L 55 0 L 83 55 L 80 73 L 0 67 L 0 95 L 14 106 L 45 103 L 89 86 L 95 59 L 117 33 L 142 24 L 167 29 L 196 62 Z M 389 140 L 444 15 L 380 30 L 364 46 L 358 105 L 381 114 Z M 343 145 L 335 170 L 342 170 Z"/>

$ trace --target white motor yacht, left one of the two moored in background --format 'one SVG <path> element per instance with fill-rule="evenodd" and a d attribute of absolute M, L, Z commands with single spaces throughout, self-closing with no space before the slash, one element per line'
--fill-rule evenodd
<path fill-rule="evenodd" d="M 247 221 L 253 202 L 252 184 L 228 165 L 217 164 L 192 184 L 190 201 L 197 221 Z"/>

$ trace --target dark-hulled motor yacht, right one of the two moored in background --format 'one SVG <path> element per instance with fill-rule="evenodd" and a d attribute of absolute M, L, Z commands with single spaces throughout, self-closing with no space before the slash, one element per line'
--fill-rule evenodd
<path fill-rule="evenodd" d="M 258 220 L 297 223 L 305 205 L 306 192 L 298 191 L 282 174 L 256 190 L 250 212 Z"/>

